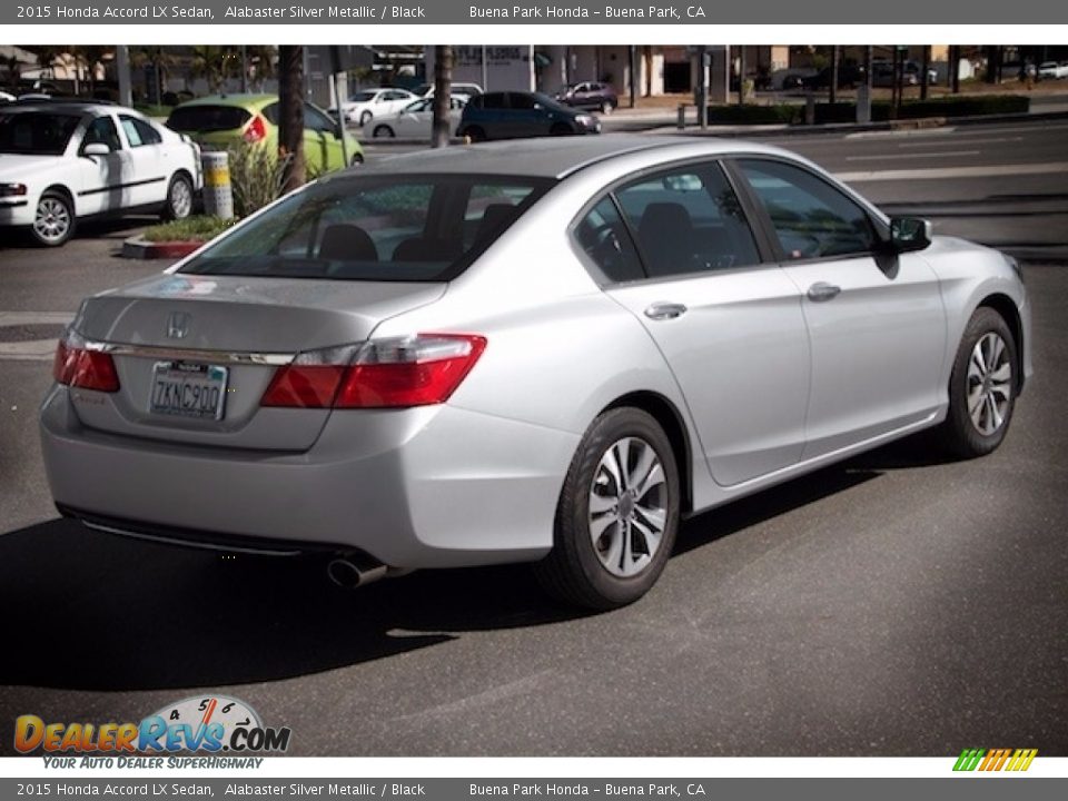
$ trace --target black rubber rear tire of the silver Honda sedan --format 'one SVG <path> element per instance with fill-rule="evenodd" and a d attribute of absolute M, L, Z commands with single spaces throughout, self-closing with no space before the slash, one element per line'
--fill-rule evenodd
<path fill-rule="evenodd" d="M 602 459 L 624 439 L 631 443 L 642 441 L 642 444 L 651 447 L 664 479 L 662 488 L 655 490 L 656 493 L 663 493 L 659 495 L 664 511 L 660 544 L 652 554 L 647 553 L 650 548 L 646 547 L 646 563 L 630 576 L 610 572 L 599 555 L 601 540 L 606 535 L 602 534 L 595 544 L 590 528 L 590 500 L 595 488 L 594 482 L 599 482 L 600 486 Z M 556 507 L 553 550 L 534 565 L 542 587 L 564 603 L 592 610 L 616 609 L 637 601 L 653 586 L 671 556 L 679 527 L 680 498 L 674 453 L 660 424 L 636 408 L 622 407 L 605 412 L 586 431 L 564 479 Z M 636 503 L 632 505 L 640 507 Z M 610 524 L 604 531 L 620 530 Z M 644 535 L 635 538 L 635 531 L 641 534 L 640 530 L 631 526 L 619 534 L 632 548 L 647 542 Z M 623 553 L 625 555 L 627 552 Z"/>

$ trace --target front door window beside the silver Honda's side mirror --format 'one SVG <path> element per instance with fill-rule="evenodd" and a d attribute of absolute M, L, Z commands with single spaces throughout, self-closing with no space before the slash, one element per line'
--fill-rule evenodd
<path fill-rule="evenodd" d="M 871 218 L 827 181 L 782 161 L 743 159 L 738 164 L 771 218 L 787 259 L 850 256 L 874 249 Z"/>

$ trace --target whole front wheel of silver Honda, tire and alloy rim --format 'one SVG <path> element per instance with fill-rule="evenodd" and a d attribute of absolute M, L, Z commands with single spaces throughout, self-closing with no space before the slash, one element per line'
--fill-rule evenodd
<path fill-rule="evenodd" d="M 1016 339 L 1005 318 L 979 308 L 968 322 L 949 379 L 947 446 L 965 458 L 1001 444 L 1016 405 Z"/>

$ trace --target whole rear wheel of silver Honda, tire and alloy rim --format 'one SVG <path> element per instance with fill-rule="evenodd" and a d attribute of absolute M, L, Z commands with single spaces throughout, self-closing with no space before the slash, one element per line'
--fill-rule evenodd
<path fill-rule="evenodd" d="M 542 586 L 594 610 L 636 601 L 671 556 L 679 498 L 679 471 L 660 424 L 641 409 L 604 413 L 567 472 L 553 550 L 535 565 Z"/>

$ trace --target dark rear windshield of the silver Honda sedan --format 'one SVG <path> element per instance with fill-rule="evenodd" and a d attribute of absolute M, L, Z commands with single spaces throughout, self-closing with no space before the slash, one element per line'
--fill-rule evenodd
<path fill-rule="evenodd" d="M 180 271 L 451 280 L 551 185 L 510 176 L 337 177 L 289 196 Z"/>

